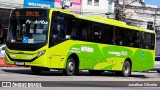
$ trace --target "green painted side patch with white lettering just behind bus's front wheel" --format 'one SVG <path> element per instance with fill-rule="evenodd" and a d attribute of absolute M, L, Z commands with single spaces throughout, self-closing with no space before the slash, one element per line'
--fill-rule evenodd
<path fill-rule="evenodd" d="M 80 60 L 80 69 L 101 69 L 100 62 L 104 59 L 104 56 L 99 49 L 98 44 L 77 41 L 77 44 L 73 45 L 69 49 L 68 55 L 71 55 L 72 53 L 76 53 L 78 55 Z"/>

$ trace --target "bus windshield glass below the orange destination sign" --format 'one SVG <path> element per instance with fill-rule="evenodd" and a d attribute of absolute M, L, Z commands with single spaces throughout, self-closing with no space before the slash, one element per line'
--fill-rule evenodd
<path fill-rule="evenodd" d="M 11 19 L 8 41 L 15 43 L 45 42 L 47 37 L 48 20 L 46 19 Z"/>

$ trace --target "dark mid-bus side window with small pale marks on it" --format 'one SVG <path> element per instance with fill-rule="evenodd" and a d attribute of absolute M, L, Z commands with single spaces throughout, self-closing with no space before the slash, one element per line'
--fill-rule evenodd
<path fill-rule="evenodd" d="M 89 41 L 104 44 L 113 44 L 113 26 L 93 23 L 89 30 Z"/>

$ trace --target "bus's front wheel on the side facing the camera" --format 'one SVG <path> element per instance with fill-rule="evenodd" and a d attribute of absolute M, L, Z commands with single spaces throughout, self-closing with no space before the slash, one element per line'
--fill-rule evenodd
<path fill-rule="evenodd" d="M 66 76 L 72 76 L 75 74 L 76 67 L 75 67 L 75 61 L 71 57 L 67 60 L 66 69 L 63 70 L 63 74 Z"/>

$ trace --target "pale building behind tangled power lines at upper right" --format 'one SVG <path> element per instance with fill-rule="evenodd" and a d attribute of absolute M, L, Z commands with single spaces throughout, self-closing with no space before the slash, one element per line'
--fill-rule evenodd
<path fill-rule="evenodd" d="M 125 15 L 125 22 L 129 25 L 153 30 L 160 25 L 160 16 L 157 6 L 145 5 L 144 0 L 124 0 L 125 9 L 123 10 L 123 0 L 118 0 L 118 4 Z M 121 11 L 122 12 L 122 11 Z M 155 16 L 155 13 L 156 16 Z"/>

